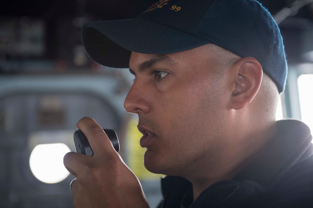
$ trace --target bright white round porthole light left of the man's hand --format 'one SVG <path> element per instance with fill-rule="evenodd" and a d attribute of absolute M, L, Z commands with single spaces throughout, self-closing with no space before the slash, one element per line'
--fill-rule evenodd
<path fill-rule="evenodd" d="M 33 175 L 44 183 L 58 183 L 69 176 L 63 165 L 63 157 L 70 149 L 66 144 L 40 144 L 35 146 L 29 158 Z"/>

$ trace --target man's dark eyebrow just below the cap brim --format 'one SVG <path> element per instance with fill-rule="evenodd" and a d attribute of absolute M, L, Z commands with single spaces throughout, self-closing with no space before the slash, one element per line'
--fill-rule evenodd
<path fill-rule="evenodd" d="M 178 62 L 174 61 L 173 59 L 168 57 L 166 54 L 156 54 L 153 57 L 151 57 L 150 59 L 140 63 L 138 65 L 138 72 L 142 73 L 147 68 L 150 68 L 150 67 L 152 67 L 156 64 L 160 64 L 160 63 L 166 63 L 166 64 L 170 64 L 172 66 L 176 66 L 178 64 Z M 131 68 L 129 68 L 129 71 L 132 74 L 135 74 L 135 72 Z"/>

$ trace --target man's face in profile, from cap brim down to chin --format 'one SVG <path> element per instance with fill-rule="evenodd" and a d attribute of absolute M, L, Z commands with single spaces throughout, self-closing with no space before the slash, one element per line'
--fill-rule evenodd
<path fill-rule="evenodd" d="M 131 53 L 135 81 L 124 107 L 139 116 L 147 170 L 186 177 L 204 161 L 218 162 L 229 77 L 210 53 L 208 45 L 165 55 Z"/>

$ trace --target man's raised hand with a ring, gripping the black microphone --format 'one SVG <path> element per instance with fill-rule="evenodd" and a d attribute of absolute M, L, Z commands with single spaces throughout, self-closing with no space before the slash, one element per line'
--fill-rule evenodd
<path fill-rule="evenodd" d="M 74 207 L 149 207 L 138 178 L 95 120 L 84 117 L 76 128 L 88 138 L 93 156 L 75 152 L 64 156 L 64 166 L 76 177 L 71 186 Z"/>

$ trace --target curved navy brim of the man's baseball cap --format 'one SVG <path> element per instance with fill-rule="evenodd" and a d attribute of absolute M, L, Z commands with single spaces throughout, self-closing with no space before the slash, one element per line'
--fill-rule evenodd
<path fill-rule="evenodd" d="M 131 51 L 164 54 L 210 43 L 163 24 L 145 19 L 88 22 L 82 27 L 87 54 L 106 67 L 128 68 Z"/>

